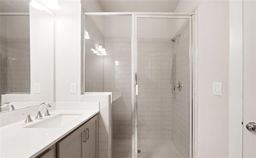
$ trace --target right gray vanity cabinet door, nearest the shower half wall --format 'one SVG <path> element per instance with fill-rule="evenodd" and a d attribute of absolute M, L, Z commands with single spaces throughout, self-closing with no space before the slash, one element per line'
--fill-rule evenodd
<path fill-rule="evenodd" d="M 90 122 L 85 124 L 86 142 L 85 142 L 85 158 L 98 157 L 98 116 L 94 117 Z"/>

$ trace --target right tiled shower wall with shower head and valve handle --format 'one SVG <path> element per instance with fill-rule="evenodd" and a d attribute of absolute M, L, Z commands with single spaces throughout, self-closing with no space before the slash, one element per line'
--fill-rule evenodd
<path fill-rule="evenodd" d="M 173 84 L 182 82 L 182 91 L 173 91 L 172 140 L 182 156 L 189 157 L 189 25 L 183 24 L 180 38 L 173 42 Z"/>

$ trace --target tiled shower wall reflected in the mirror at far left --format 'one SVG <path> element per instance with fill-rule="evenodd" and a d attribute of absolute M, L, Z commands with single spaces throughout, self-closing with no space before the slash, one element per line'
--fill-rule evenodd
<path fill-rule="evenodd" d="M 1 37 L 0 92 L 30 92 L 29 38 Z"/>

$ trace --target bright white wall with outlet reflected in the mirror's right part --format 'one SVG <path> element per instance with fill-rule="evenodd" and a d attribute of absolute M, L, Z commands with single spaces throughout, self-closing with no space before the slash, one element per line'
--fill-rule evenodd
<path fill-rule="evenodd" d="M 31 102 L 54 101 L 54 16 L 30 6 Z M 40 83 L 40 94 L 34 93 Z"/>

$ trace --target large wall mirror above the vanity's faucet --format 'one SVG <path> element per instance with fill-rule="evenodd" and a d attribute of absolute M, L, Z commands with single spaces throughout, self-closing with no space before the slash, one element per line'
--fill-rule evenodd
<path fill-rule="evenodd" d="M 0 112 L 54 102 L 54 14 L 0 0 Z"/>

